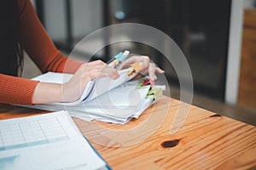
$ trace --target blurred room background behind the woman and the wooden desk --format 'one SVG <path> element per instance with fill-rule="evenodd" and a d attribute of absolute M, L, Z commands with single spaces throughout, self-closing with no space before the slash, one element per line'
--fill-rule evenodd
<path fill-rule="evenodd" d="M 33 0 L 39 19 L 63 54 L 103 26 L 139 23 L 165 32 L 182 50 L 192 72 L 193 105 L 256 125 L 256 0 Z M 95 39 L 76 51 L 92 55 Z M 179 82 L 159 51 L 138 42 L 102 48 L 93 59 L 108 61 L 125 49 L 147 54 L 166 71 L 172 97 Z M 83 59 L 84 60 L 84 59 Z M 166 64 L 167 63 L 167 64 Z M 26 57 L 23 77 L 40 74 Z"/>

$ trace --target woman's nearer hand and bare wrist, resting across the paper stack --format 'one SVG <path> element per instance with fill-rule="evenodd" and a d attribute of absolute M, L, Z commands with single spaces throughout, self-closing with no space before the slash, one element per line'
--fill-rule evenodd
<path fill-rule="evenodd" d="M 33 97 L 33 104 L 52 102 L 73 102 L 80 98 L 90 80 L 100 77 L 119 78 L 118 71 L 102 60 L 85 63 L 79 67 L 73 77 L 64 84 L 39 82 Z"/>

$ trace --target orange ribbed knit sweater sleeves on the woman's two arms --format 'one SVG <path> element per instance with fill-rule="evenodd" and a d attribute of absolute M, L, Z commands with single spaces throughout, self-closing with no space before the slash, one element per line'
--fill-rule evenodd
<path fill-rule="evenodd" d="M 75 72 L 82 62 L 67 59 L 55 48 L 29 0 L 19 0 L 21 44 L 42 72 Z M 65 65 L 68 60 L 70 68 Z M 0 103 L 32 105 L 37 81 L 0 74 Z"/>

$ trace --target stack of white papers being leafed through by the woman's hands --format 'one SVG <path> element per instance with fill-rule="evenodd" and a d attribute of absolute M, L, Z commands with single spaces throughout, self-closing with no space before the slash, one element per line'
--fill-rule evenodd
<path fill-rule="evenodd" d="M 72 103 L 52 103 L 30 105 L 29 107 L 46 111 L 67 111 L 71 116 L 77 116 L 86 121 L 98 120 L 124 124 L 132 118 L 138 118 L 154 99 L 148 99 L 150 86 L 137 88 L 138 81 L 130 81 L 127 70 L 119 71 L 119 79 L 109 77 L 90 81 L 82 97 Z M 49 72 L 34 78 L 40 82 L 67 82 L 72 75 Z"/>

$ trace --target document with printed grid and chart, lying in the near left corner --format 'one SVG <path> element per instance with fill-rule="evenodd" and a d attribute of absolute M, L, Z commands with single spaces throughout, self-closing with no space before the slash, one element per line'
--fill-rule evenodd
<path fill-rule="evenodd" d="M 0 121 L 0 169 L 110 169 L 66 111 Z"/>

